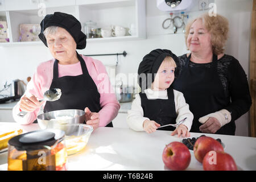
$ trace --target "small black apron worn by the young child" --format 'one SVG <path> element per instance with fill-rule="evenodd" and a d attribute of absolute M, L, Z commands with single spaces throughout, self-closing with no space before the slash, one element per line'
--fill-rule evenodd
<path fill-rule="evenodd" d="M 176 123 L 176 110 L 174 102 L 174 90 L 167 89 L 168 100 L 164 99 L 148 99 L 146 93 L 139 93 L 141 96 L 141 106 L 144 117 L 159 123 L 161 126 Z M 162 127 L 158 130 L 174 131 L 176 128 L 172 126 Z"/>

